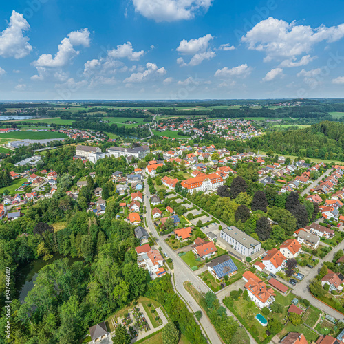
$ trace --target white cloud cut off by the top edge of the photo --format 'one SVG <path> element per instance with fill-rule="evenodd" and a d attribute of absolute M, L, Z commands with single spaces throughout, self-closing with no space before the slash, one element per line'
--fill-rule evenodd
<path fill-rule="evenodd" d="M 155 21 L 192 19 L 207 12 L 213 0 L 133 0 L 135 11 Z"/>

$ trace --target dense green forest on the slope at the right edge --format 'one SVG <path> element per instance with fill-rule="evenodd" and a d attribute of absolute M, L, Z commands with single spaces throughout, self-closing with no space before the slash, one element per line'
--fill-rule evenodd
<path fill-rule="evenodd" d="M 252 138 L 252 149 L 344 161 L 344 124 L 323 121 L 304 129 L 274 131 Z"/>

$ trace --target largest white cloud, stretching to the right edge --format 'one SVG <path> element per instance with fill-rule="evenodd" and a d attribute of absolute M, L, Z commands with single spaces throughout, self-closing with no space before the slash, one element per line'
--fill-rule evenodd
<path fill-rule="evenodd" d="M 313 45 L 321 41 L 332 43 L 344 36 L 344 24 L 327 28 L 311 28 L 310 25 L 297 25 L 283 20 L 268 18 L 260 21 L 248 31 L 241 41 L 248 44 L 248 49 L 266 53 L 264 61 L 273 58 L 290 58 L 308 53 Z"/>

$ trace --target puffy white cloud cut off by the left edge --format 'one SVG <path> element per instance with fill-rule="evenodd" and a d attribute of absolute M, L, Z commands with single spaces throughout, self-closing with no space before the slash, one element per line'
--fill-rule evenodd
<path fill-rule="evenodd" d="M 28 21 L 23 14 L 12 12 L 8 28 L 0 33 L 0 56 L 23 58 L 30 54 L 32 46 L 24 32 L 30 30 Z"/>

